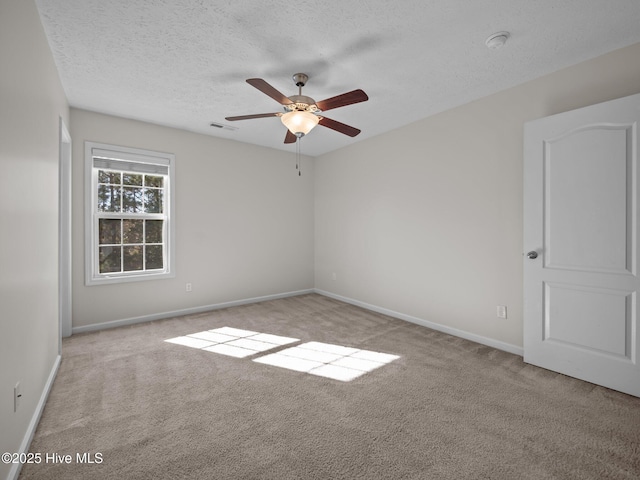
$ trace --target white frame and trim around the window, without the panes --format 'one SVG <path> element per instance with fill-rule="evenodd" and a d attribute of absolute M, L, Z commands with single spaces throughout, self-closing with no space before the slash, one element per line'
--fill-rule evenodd
<path fill-rule="evenodd" d="M 120 147 L 104 143 L 85 142 L 85 285 L 104 285 L 122 282 L 137 282 L 175 277 L 175 198 L 173 184 L 175 176 L 175 155 L 138 148 Z M 98 253 L 98 167 L 94 158 L 111 158 L 135 164 L 158 165 L 168 169 L 164 185 L 164 268 L 153 271 L 100 273 Z M 129 171 L 134 171 L 131 169 Z M 117 217 L 117 216 L 116 216 Z M 125 218 L 126 214 L 118 218 Z"/>

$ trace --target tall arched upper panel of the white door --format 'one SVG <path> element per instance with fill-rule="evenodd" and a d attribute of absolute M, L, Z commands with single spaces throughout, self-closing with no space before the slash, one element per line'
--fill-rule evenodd
<path fill-rule="evenodd" d="M 547 268 L 629 269 L 629 130 L 599 125 L 545 141 Z"/>

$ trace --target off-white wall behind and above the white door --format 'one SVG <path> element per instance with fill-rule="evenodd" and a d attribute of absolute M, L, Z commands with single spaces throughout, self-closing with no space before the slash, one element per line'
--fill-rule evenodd
<path fill-rule="evenodd" d="M 317 158 L 316 288 L 518 351 L 523 124 L 638 92 L 640 44 Z"/>

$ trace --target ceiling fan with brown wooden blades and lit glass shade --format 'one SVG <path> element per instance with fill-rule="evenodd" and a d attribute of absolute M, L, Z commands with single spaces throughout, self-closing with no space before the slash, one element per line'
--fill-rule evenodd
<path fill-rule="evenodd" d="M 302 87 L 305 86 L 308 80 L 309 76 L 304 73 L 296 73 L 293 75 L 293 81 L 298 87 L 298 95 L 285 97 L 265 80 L 261 78 L 249 78 L 247 79 L 249 85 L 257 88 L 265 95 L 270 96 L 276 102 L 283 105 L 284 112 L 240 115 L 237 117 L 226 117 L 226 120 L 233 122 L 252 118 L 280 117 L 282 123 L 287 127 L 284 143 L 295 143 L 298 138 L 309 133 L 316 125 L 322 125 L 323 127 L 330 128 L 350 137 L 358 135 L 360 133 L 359 129 L 320 114 L 334 108 L 365 102 L 369 100 L 367 94 L 358 89 L 316 102 L 313 98 L 302 95 Z"/>

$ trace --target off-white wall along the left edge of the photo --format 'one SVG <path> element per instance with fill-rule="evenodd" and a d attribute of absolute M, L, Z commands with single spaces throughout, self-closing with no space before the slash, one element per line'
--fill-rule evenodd
<path fill-rule="evenodd" d="M 19 452 L 58 357 L 58 128 L 69 107 L 33 1 L 0 3 L 0 453 Z M 13 387 L 22 402 L 13 411 Z M 0 463 L 0 478 L 11 465 Z M 15 473 L 15 470 L 13 471 Z"/>

